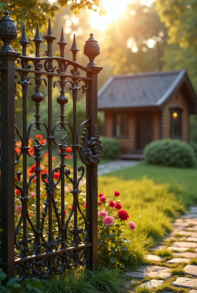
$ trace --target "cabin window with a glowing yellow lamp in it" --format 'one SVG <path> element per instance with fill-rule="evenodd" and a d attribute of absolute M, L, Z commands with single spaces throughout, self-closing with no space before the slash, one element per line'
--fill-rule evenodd
<path fill-rule="evenodd" d="M 171 138 L 181 138 L 182 109 L 171 109 Z"/>

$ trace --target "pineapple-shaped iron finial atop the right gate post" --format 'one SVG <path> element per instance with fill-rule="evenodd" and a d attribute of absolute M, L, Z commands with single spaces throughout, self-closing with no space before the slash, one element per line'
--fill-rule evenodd
<path fill-rule="evenodd" d="M 100 54 L 100 47 L 97 40 L 93 37 L 93 33 L 90 34 L 90 38 L 86 41 L 84 45 L 84 55 L 89 58 L 87 66 L 97 65 L 94 59 Z"/>

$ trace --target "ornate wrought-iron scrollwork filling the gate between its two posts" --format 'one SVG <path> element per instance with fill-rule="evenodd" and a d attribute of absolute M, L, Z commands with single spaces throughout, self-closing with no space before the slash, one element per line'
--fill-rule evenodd
<path fill-rule="evenodd" d="M 52 65 L 52 58 L 45 58 L 44 68 L 47 72 L 54 72 L 55 68 Z M 53 58 L 57 61 L 57 59 Z M 49 79 L 51 76 L 47 76 L 48 81 L 41 76 L 38 70 L 41 69 L 41 65 L 39 65 L 38 60 L 30 60 L 28 58 L 21 58 L 22 68 L 30 69 L 29 61 L 33 61 L 35 65 L 35 73 L 34 76 L 28 77 L 28 72 L 20 71 L 19 68 L 16 68 L 16 73 L 20 76 L 20 81 L 18 81 L 18 85 L 22 87 L 23 93 L 23 132 L 20 132 L 17 125 L 15 125 L 15 147 L 18 147 L 20 150 L 15 151 L 15 165 L 17 168 L 17 164 L 19 161 L 23 163 L 23 170 L 16 171 L 16 180 L 15 180 L 15 188 L 19 191 L 20 196 L 19 200 L 22 205 L 22 210 L 19 216 L 19 220 L 16 226 L 15 234 L 14 234 L 14 242 L 16 247 L 16 276 L 19 277 L 19 280 L 23 280 L 25 277 L 47 277 L 51 274 L 51 272 L 55 272 L 56 274 L 62 273 L 66 269 L 71 269 L 77 265 L 84 265 L 88 259 L 88 247 L 92 244 L 89 242 L 89 235 L 87 229 L 87 220 L 86 216 L 81 211 L 78 195 L 81 193 L 79 189 L 80 181 L 85 174 L 84 166 L 77 166 L 77 154 L 80 154 L 79 144 L 79 134 L 82 130 L 82 127 L 88 123 L 90 118 L 85 120 L 77 130 L 76 128 L 76 120 L 77 120 L 77 93 L 81 90 L 85 93 L 88 90 L 89 80 L 86 78 L 80 79 L 66 79 L 66 76 L 60 76 L 60 80 L 56 80 L 54 84 L 50 83 Z M 71 62 L 73 63 L 73 62 Z M 65 63 L 64 60 L 58 61 L 59 67 L 57 69 L 58 73 L 65 73 L 69 63 Z M 73 64 L 72 64 L 73 65 Z M 72 74 L 74 76 L 78 76 L 78 67 L 74 67 Z M 31 71 L 32 74 L 32 71 Z M 33 93 L 31 99 L 35 102 L 35 120 L 30 122 L 27 126 L 26 123 L 26 115 L 27 115 L 27 89 L 28 86 L 31 85 L 32 81 L 35 82 L 35 87 L 33 88 L 35 92 Z M 42 83 L 43 82 L 43 83 Z M 50 115 L 50 109 L 52 107 L 52 86 L 57 86 L 59 83 L 60 86 L 60 96 L 57 97 L 57 104 L 60 106 L 60 121 L 57 121 L 54 126 L 52 123 L 46 125 L 42 121 L 42 115 L 40 113 L 40 104 L 43 101 L 43 95 L 40 91 L 40 86 L 44 84 L 48 86 L 48 115 Z M 79 83 L 83 83 L 81 87 L 79 87 Z M 72 92 L 72 100 L 73 100 L 73 125 L 71 125 L 68 121 L 66 121 L 66 115 L 64 113 L 65 105 L 68 103 L 68 98 L 65 96 L 66 91 L 65 87 L 69 84 L 69 90 Z M 49 88 L 51 87 L 51 88 Z M 51 96 L 50 96 L 51 95 Z M 25 116 L 25 117 L 24 117 Z M 40 131 L 46 133 L 46 139 L 44 142 L 40 141 L 38 138 L 35 138 L 35 143 L 33 145 L 33 151 L 30 152 L 30 147 L 28 145 L 31 131 Z M 55 132 L 62 131 L 64 135 L 60 142 L 57 142 L 55 138 Z M 67 132 L 71 133 L 72 136 L 72 145 L 71 151 L 67 152 Z M 17 146 L 17 142 L 20 142 L 20 145 Z M 53 169 L 50 169 L 50 161 L 52 162 L 52 144 L 54 146 L 58 146 L 59 155 L 61 158 L 60 165 L 56 166 Z M 41 182 L 45 185 L 46 198 L 43 204 L 43 209 L 40 206 L 39 212 L 36 212 L 38 215 L 40 213 L 40 218 L 36 219 L 36 225 L 32 222 L 29 216 L 29 206 L 28 202 L 30 200 L 29 196 L 29 187 L 35 187 L 36 193 L 36 206 L 37 208 L 40 205 L 40 172 L 43 171 L 40 168 L 40 161 L 42 159 L 43 147 L 48 146 L 48 156 L 49 156 L 49 171 L 48 174 L 46 172 L 42 172 Z M 33 157 L 35 160 L 35 170 L 34 174 L 29 177 L 27 180 L 27 156 Z M 74 156 L 74 170 L 71 175 L 71 171 L 67 168 L 65 164 L 65 158 L 69 156 Z M 52 166 L 52 164 L 51 164 Z M 54 178 L 55 173 L 60 173 L 58 180 L 56 181 Z M 77 176 L 76 174 L 80 175 Z M 77 176 L 77 177 L 76 177 Z M 23 180 L 21 180 L 21 178 Z M 73 196 L 73 205 L 72 210 L 70 211 L 67 219 L 64 219 L 64 210 L 59 210 L 57 206 L 57 201 L 55 200 L 54 194 L 56 192 L 57 186 L 58 190 L 61 192 L 61 201 L 64 204 L 64 186 L 67 180 L 72 184 L 72 190 L 70 193 Z M 20 182 L 22 183 L 20 184 Z M 33 183 L 34 182 L 34 183 Z M 35 184 L 36 182 L 36 184 Z M 63 185 L 62 185 L 63 183 Z M 38 187 L 36 187 L 38 185 Z M 60 187 L 61 185 L 61 187 Z M 81 224 L 79 225 L 77 221 L 77 213 L 80 214 L 80 217 L 83 221 L 83 228 Z M 55 221 L 57 224 L 57 228 L 52 230 L 52 224 L 48 226 L 48 230 L 46 231 L 46 221 L 49 221 L 49 218 L 53 214 L 55 217 Z M 48 220 L 47 220 L 48 219 Z M 74 219 L 74 226 L 71 225 L 71 220 Z M 28 225 L 28 229 L 27 229 Z M 72 229 L 71 229 L 72 226 Z M 19 237 L 19 232 L 22 229 L 23 237 Z M 28 233 L 30 231 L 31 233 Z M 20 234 L 21 235 L 21 234 Z M 72 250 L 73 247 L 73 250 Z M 68 251 L 67 251 L 68 250 Z M 50 255 L 48 255 L 50 254 Z M 40 258 L 34 258 L 35 256 L 40 255 Z M 24 261 L 23 259 L 26 257 L 30 257 L 30 260 Z"/>

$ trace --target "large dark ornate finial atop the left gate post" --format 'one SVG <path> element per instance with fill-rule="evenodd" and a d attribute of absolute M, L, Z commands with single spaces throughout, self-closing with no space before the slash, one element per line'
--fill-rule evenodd
<path fill-rule="evenodd" d="M 1 48 L 1 51 L 13 51 L 10 43 L 17 37 L 17 28 L 14 20 L 9 16 L 9 11 L 5 10 L 4 16 L 0 19 L 0 39 L 4 42 L 4 46 Z"/>

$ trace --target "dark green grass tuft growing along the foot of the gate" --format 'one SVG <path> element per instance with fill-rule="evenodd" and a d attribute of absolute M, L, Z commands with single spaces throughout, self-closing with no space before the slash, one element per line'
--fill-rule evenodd
<path fill-rule="evenodd" d="M 116 268 L 99 268 L 97 272 L 78 268 L 42 279 L 41 283 L 47 293 L 120 293 L 125 280 Z"/>

